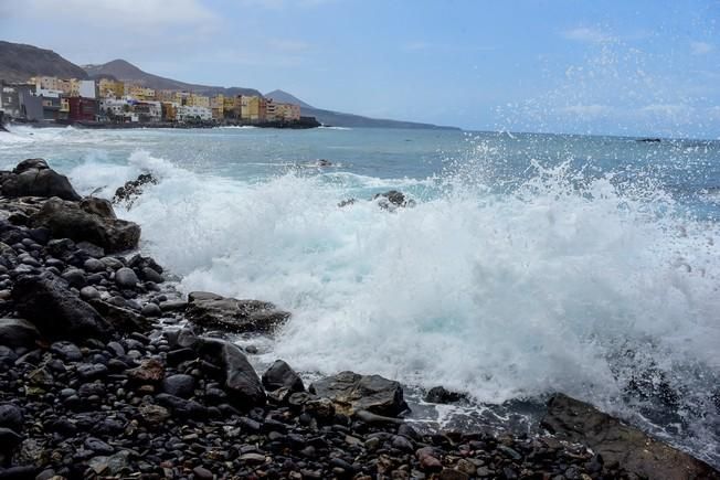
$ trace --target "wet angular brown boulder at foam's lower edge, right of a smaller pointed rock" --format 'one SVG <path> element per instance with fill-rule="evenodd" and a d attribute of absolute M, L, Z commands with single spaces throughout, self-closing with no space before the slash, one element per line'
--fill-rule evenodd
<path fill-rule="evenodd" d="M 348 416 L 359 410 L 396 416 L 407 409 L 400 383 L 380 375 L 341 372 L 313 383 L 309 391 L 330 398 L 336 410 Z"/>

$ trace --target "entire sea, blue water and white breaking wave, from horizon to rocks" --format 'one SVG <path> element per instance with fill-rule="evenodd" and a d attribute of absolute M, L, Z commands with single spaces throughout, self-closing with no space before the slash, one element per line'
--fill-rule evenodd
<path fill-rule="evenodd" d="M 720 141 L 434 130 L 14 127 L 118 214 L 183 291 L 271 300 L 239 339 L 308 377 L 378 373 L 463 407 L 592 402 L 720 465 Z M 318 167 L 319 159 L 332 162 Z M 396 189 L 414 207 L 370 201 Z M 347 199 L 360 201 L 346 207 Z M 419 406 L 426 413 L 432 406 Z"/>

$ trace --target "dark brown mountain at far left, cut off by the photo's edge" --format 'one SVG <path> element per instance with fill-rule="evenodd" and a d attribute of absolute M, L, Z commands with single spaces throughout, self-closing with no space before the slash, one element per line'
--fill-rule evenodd
<path fill-rule="evenodd" d="M 87 78 L 83 68 L 52 50 L 0 41 L 0 79 L 27 82 L 35 75 Z"/>

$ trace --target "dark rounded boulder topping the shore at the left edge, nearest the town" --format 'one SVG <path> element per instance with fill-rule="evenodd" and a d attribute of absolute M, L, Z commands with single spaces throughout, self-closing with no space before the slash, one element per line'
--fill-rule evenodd
<path fill-rule="evenodd" d="M 0 191 L 8 198 L 57 196 L 75 202 L 81 200 L 67 177 L 52 170 L 43 159 L 23 160 L 12 172 L 3 174 L 0 181 Z"/>

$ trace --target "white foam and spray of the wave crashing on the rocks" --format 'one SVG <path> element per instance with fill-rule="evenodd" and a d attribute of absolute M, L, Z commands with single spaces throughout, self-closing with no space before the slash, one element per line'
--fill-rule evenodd
<path fill-rule="evenodd" d="M 717 224 L 658 216 L 643 189 L 621 194 L 608 178 L 534 169 L 501 195 L 468 181 L 475 167 L 425 181 L 295 172 L 243 182 L 136 152 L 70 174 L 109 195 L 156 173 L 160 183 L 119 215 L 141 224 L 142 247 L 186 291 L 292 311 L 267 361 L 442 384 L 491 403 L 562 391 L 637 418 L 623 391 L 657 369 L 703 412 L 681 413 L 699 438 L 688 441 L 713 448 L 717 438 L 702 439 L 719 425 L 708 406 L 720 371 Z M 395 212 L 337 206 L 419 185 L 442 193 Z"/>

